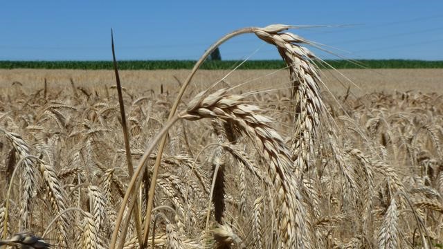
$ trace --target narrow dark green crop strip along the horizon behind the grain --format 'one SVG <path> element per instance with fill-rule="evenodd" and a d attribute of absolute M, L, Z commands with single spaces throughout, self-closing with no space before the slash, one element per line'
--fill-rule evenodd
<path fill-rule="evenodd" d="M 421 60 L 359 60 L 350 62 L 346 60 L 327 60 L 327 64 L 337 69 L 343 68 L 443 68 L 443 61 Z M 208 61 L 202 69 L 230 69 L 238 61 Z M 120 61 L 120 70 L 158 70 L 158 69 L 190 69 L 194 66 L 192 60 L 153 60 L 153 61 Z M 284 67 L 280 60 L 251 60 L 240 66 L 240 69 L 279 69 Z M 320 66 L 325 68 L 327 66 Z M 0 61 L 0 68 L 44 68 L 44 69 L 84 69 L 99 70 L 112 69 L 111 61 Z"/>

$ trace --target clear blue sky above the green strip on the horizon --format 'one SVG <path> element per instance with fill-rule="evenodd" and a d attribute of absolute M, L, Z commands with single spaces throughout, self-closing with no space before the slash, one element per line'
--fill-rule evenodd
<path fill-rule="evenodd" d="M 443 1 L 3 1 L 0 60 L 197 59 L 222 35 L 269 24 L 347 25 L 291 30 L 355 59 L 443 59 Z M 253 35 L 223 59 L 277 59 Z M 318 52 L 323 58 L 330 55 Z"/>

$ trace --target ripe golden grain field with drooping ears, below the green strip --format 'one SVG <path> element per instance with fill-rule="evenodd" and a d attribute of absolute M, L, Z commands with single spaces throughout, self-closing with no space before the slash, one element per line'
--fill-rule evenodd
<path fill-rule="evenodd" d="M 0 246 L 441 248 L 442 71 L 253 31 L 287 68 L 120 71 L 123 102 L 113 71 L 0 71 Z"/>

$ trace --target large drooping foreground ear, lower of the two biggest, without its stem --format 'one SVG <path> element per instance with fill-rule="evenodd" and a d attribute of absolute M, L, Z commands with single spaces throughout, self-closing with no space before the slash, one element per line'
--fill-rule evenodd
<path fill-rule="evenodd" d="M 181 115 L 188 120 L 217 118 L 231 122 L 236 129 L 251 138 L 262 160 L 268 162 L 267 177 L 273 183 L 281 205 L 275 212 L 280 216 L 277 226 L 283 247 L 298 246 L 309 248 L 309 238 L 305 221 L 305 208 L 298 190 L 298 181 L 292 172 L 293 161 L 282 137 L 271 128 L 271 120 L 260 115 L 260 108 L 244 104 L 242 95 L 229 95 L 227 89 L 215 93 L 199 93 L 188 104 L 186 113 Z"/>

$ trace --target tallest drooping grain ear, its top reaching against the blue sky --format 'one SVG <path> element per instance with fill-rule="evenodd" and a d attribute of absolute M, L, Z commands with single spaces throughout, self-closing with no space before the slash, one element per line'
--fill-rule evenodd
<path fill-rule="evenodd" d="M 295 166 L 303 170 L 309 166 L 310 156 L 314 155 L 314 141 L 324 104 L 318 84 L 318 68 L 313 60 L 316 56 L 300 44 L 309 41 L 292 33 L 282 33 L 288 26 L 268 26 L 254 31 L 255 35 L 277 47 L 278 53 L 289 67 L 292 98 L 295 100 L 295 125 L 291 133 L 291 149 Z"/>

